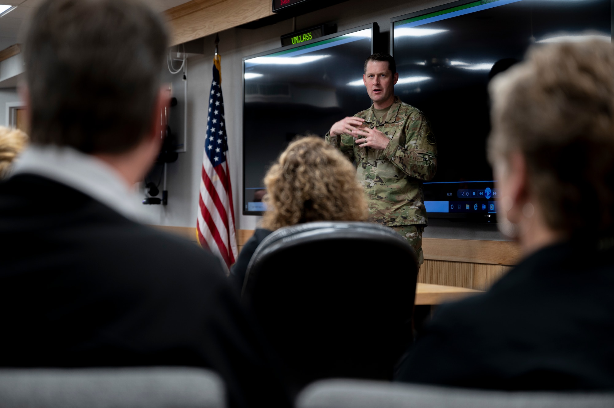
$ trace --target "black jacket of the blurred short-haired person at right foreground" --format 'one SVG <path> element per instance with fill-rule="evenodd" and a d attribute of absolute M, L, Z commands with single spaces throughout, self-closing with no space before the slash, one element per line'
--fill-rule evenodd
<path fill-rule="evenodd" d="M 398 378 L 510 390 L 604 388 L 614 379 L 602 374 L 614 363 L 612 255 L 578 241 L 554 244 L 488 292 L 441 305 Z"/>

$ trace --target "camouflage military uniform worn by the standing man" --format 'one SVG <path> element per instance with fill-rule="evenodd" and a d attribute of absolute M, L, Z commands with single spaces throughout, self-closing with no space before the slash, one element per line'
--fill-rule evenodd
<path fill-rule="evenodd" d="M 387 115 L 378 121 L 373 105 L 357 113 L 364 125 L 390 139 L 384 150 L 359 147 L 349 134 L 326 135 L 352 162 L 369 203 L 369 221 L 387 225 L 404 236 L 422 263 L 422 231 L 427 224 L 422 181 L 437 170 L 437 142 L 424 114 L 398 96 Z"/>

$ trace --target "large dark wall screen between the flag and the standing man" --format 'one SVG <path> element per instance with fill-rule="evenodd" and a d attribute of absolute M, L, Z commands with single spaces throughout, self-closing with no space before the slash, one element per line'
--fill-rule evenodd
<path fill-rule="evenodd" d="M 298 134 L 324 137 L 371 105 L 362 83 L 376 24 L 247 57 L 243 105 L 243 214 L 261 214 L 265 172 Z"/>

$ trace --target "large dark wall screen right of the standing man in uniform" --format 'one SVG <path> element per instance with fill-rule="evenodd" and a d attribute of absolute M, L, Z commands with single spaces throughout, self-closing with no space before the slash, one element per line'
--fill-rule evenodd
<path fill-rule="evenodd" d="M 424 183 L 429 216 L 494 219 L 497 190 L 486 161 L 490 78 L 532 44 L 609 40 L 610 0 L 454 2 L 391 19 L 402 79 L 395 93 L 424 112 L 438 143 L 437 175 Z"/>

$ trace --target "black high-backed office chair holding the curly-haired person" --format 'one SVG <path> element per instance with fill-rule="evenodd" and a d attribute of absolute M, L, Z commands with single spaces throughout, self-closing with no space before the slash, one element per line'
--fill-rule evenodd
<path fill-rule="evenodd" d="M 412 339 L 417 266 L 386 227 L 293 225 L 258 246 L 243 298 L 295 391 L 327 377 L 391 379 Z"/>

